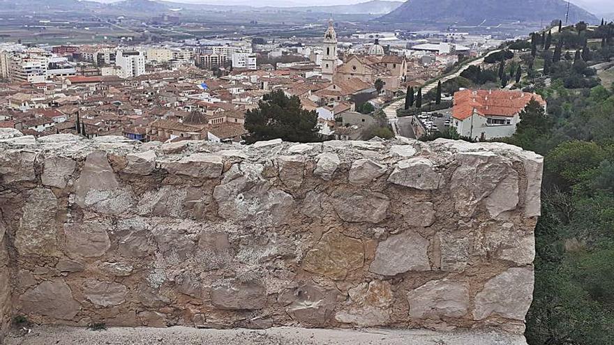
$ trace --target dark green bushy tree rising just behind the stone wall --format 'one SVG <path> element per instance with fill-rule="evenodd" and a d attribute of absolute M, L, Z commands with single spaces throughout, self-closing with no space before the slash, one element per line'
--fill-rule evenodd
<path fill-rule="evenodd" d="M 248 143 L 281 138 L 285 141 L 321 141 L 317 135 L 317 113 L 301 107 L 297 96 L 288 98 L 281 90 L 264 95 L 257 109 L 248 110 L 245 128 Z"/>

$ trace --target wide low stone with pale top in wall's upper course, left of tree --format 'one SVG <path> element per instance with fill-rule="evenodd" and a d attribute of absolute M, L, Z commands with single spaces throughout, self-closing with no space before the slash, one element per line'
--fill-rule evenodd
<path fill-rule="evenodd" d="M 218 178 L 222 175 L 224 162 L 220 155 L 193 153 L 178 161 L 162 162 L 162 167 L 170 174 L 193 178 Z"/>

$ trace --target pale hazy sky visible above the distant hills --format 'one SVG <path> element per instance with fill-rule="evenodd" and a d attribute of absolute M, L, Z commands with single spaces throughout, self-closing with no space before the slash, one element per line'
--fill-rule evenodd
<path fill-rule="evenodd" d="M 100 2 L 115 2 L 120 0 L 95 0 Z M 340 5 L 359 3 L 368 0 L 166 0 L 183 3 L 211 3 L 215 5 L 250 5 L 250 6 L 313 6 L 313 5 Z M 391 0 L 395 1 L 395 0 Z M 514 1 L 514 0 L 509 0 Z M 571 0 L 572 3 L 582 6 L 594 13 L 614 12 L 614 0 Z"/>

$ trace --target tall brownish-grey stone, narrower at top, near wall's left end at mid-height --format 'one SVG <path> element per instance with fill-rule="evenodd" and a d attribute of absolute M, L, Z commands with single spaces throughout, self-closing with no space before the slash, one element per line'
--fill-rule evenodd
<path fill-rule="evenodd" d="M 51 190 L 36 188 L 29 192 L 19 228 L 15 232 L 15 247 L 24 256 L 57 254 L 57 198 Z"/>

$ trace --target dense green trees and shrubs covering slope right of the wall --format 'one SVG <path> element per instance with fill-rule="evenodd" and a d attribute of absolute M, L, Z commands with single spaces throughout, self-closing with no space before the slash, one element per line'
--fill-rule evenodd
<path fill-rule="evenodd" d="M 539 35 L 536 59 L 527 61 L 540 59 L 544 68 L 530 71 L 525 89 L 544 96 L 548 112 L 530 103 L 516 134 L 506 140 L 545 157 L 526 337 L 531 345 L 611 345 L 614 95 L 588 66 L 613 57 L 614 24 Z"/>

